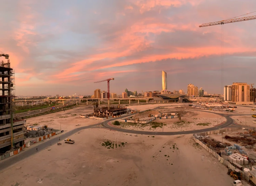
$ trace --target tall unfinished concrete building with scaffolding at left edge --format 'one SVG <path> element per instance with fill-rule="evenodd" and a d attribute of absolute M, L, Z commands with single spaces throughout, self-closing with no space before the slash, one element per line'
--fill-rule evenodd
<path fill-rule="evenodd" d="M 10 61 L 0 61 L 0 154 L 24 144 L 26 120 L 15 120 L 15 76 Z"/>

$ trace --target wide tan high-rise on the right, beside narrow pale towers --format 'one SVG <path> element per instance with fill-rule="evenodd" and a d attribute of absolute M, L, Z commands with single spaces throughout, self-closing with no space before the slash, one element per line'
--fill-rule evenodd
<path fill-rule="evenodd" d="M 250 85 L 247 83 L 233 83 L 231 85 L 232 102 L 250 102 Z"/>

